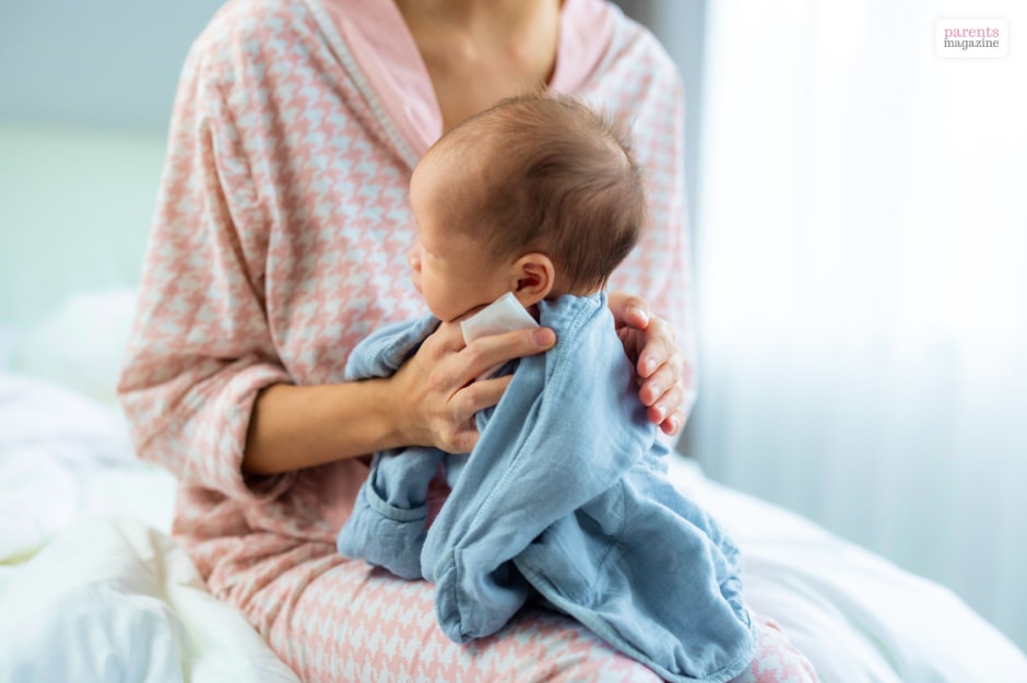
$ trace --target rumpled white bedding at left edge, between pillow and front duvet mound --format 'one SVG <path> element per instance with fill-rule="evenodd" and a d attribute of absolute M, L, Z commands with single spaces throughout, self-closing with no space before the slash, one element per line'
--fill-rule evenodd
<path fill-rule="evenodd" d="M 138 460 L 117 409 L 0 373 L 0 562 L 75 520 L 132 517 L 169 530 L 174 480 Z"/>

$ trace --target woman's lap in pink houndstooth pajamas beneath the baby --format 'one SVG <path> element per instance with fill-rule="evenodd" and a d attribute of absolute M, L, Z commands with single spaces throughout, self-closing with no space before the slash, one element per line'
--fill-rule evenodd
<path fill-rule="evenodd" d="M 264 585 L 245 610 L 307 683 L 660 680 L 583 626 L 550 612 L 527 610 L 492 637 L 455 644 L 436 625 L 429 584 L 338 557 L 294 566 Z M 815 681 L 777 625 L 759 622 L 759 655 L 735 682 Z"/>

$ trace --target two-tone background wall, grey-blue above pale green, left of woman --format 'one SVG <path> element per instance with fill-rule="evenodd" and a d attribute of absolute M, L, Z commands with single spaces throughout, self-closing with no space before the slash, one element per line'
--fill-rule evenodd
<path fill-rule="evenodd" d="M 0 3 L 0 321 L 138 280 L 175 83 L 219 4 Z"/>

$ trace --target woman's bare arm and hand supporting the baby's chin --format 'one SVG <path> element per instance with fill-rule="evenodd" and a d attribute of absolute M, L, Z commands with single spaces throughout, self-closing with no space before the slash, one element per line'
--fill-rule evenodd
<path fill-rule="evenodd" d="M 243 469 L 274 474 L 399 446 L 469 452 L 479 437 L 474 414 L 499 402 L 511 376 L 474 378 L 554 342 L 543 328 L 464 345 L 459 325 L 444 325 L 392 377 L 268 387 L 255 401 Z"/>

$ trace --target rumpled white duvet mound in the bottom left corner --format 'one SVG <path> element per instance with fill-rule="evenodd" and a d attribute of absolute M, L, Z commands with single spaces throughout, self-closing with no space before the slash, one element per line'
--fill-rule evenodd
<path fill-rule="evenodd" d="M 133 519 L 72 525 L 0 600 L 3 681 L 298 683 L 181 545 Z"/>

